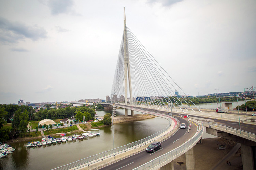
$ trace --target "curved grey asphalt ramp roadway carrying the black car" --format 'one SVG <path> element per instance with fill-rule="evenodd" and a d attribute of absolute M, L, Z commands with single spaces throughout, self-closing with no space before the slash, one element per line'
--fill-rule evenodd
<path fill-rule="evenodd" d="M 191 122 L 191 130 L 187 132 L 189 122 L 187 119 L 175 116 L 181 123 L 186 124 L 186 129 L 179 129 L 175 134 L 173 134 L 168 139 L 161 141 L 162 148 L 155 151 L 154 153 L 147 153 L 143 150 L 137 154 L 131 155 L 127 158 L 121 159 L 119 161 L 113 162 L 108 166 L 98 168 L 100 170 L 130 170 L 137 168 L 138 166 L 147 163 L 148 161 L 155 159 L 185 143 L 188 139 L 193 137 L 193 135 L 199 130 L 198 125 Z"/>

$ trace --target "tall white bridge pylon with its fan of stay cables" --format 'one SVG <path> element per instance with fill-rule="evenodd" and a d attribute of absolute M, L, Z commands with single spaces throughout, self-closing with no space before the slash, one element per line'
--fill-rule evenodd
<path fill-rule="evenodd" d="M 112 101 L 125 105 L 200 111 L 126 26 L 125 8 L 124 32 L 111 94 L 115 94 Z M 125 113 L 127 115 L 127 110 Z"/>

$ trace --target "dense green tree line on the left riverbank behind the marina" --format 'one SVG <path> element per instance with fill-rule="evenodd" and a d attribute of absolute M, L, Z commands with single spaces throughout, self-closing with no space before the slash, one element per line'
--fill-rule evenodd
<path fill-rule="evenodd" d="M 100 104 L 97 106 L 98 109 L 104 109 Z M 0 104 L 0 141 L 6 141 L 19 136 L 22 137 L 22 135 L 28 130 L 28 123 L 30 121 L 72 117 L 76 118 L 77 121 L 82 121 L 83 116 L 85 116 L 85 121 L 88 121 L 93 120 L 95 114 L 95 109 L 90 109 L 86 106 L 65 107 L 59 109 L 40 108 L 40 110 L 36 112 L 32 106 Z M 7 123 L 11 123 L 11 125 L 6 125 Z"/>

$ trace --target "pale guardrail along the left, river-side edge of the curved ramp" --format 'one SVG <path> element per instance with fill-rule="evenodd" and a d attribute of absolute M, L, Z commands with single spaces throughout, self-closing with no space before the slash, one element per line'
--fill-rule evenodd
<path fill-rule="evenodd" d="M 156 114 L 156 115 L 159 116 L 158 114 Z M 166 117 L 167 116 L 164 116 L 164 118 L 166 118 Z M 176 118 L 174 118 L 174 119 L 176 119 Z M 178 121 L 178 120 L 176 119 L 176 121 Z M 71 168 L 74 168 L 74 167 L 77 167 L 77 166 L 80 166 L 80 165 L 83 165 L 83 164 L 88 164 L 89 162 L 92 162 L 92 161 L 97 160 L 99 158 L 103 158 L 103 157 L 106 157 L 106 156 L 111 156 L 112 154 L 120 152 L 120 151 L 125 151 L 126 149 L 129 149 L 129 148 L 136 148 L 140 144 L 142 144 L 144 142 L 147 142 L 147 141 L 149 142 L 151 139 L 153 139 L 153 138 L 157 137 L 158 135 L 162 134 L 163 132 L 167 131 L 170 128 L 170 125 L 171 125 L 171 122 L 165 129 L 163 129 L 163 130 L 161 130 L 161 131 L 159 131 L 159 132 L 157 132 L 157 133 L 155 133 L 151 136 L 148 136 L 144 139 L 141 139 L 141 140 L 129 143 L 127 145 L 124 145 L 124 146 L 121 146 L 121 147 L 118 147 L 118 148 L 115 148 L 115 149 L 111 149 L 111 150 L 108 150 L 108 151 L 105 151 L 105 152 L 102 152 L 102 153 L 99 153 L 99 154 L 96 154 L 96 155 L 93 155 L 93 156 L 89 156 L 89 157 L 81 159 L 81 160 L 77 160 L 73 163 L 66 164 L 66 165 L 54 168 L 52 170 L 71 169 Z M 172 132 L 175 129 L 175 127 L 170 132 Z"/>

